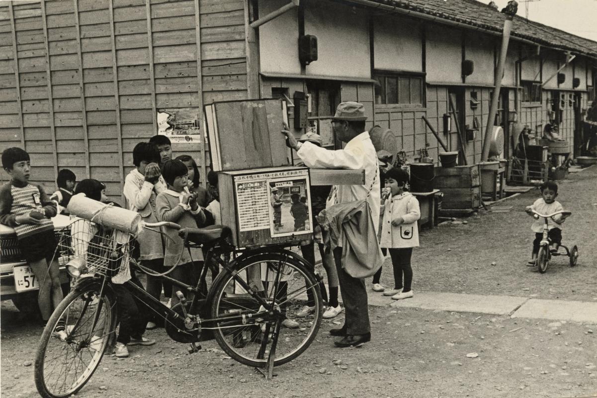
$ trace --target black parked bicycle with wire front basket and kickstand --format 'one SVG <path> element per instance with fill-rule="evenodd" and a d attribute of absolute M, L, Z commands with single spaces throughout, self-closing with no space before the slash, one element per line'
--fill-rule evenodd
<path fill-rule="evenodd" d="M 121 277 L 128 267 L 149 271 L 131 259 L 133 235 L 95 223 L 97 232 L 91 237 L 77 224 L 83 222 L 90 223 L 79 219 L 64 229 L 57 247 L 57 253 L 70 259 L 67 269 L 78 281 L 50 317 L 38 345 L 35 384 L 45 398 L 68 397 L 81 390 L 115 341 L 112 277 Z M 190 344 L 189 352 L 194 353 L 201 349 L 196 343 L 215 338 L 232 359 L 258 370 L 267 368 L 261 371 L 266 378 L 272 377 L 274 366 L 290 362 L 309 347 L 321 324 L 321 290 L 306 260 L 285 248 L 291 243 L 239 249 L 229 243 L 227 226 L 144 225 L 161 226 L 179 229 L 189 252 L 199 247 L 207 252 L 195 286 L 168 277 L 168 271 L 159 274 L 180 287 L 179 303 L 172 308 L 126 282 L 133 296 L 164 319 L 171 339 Z M 224 255 L 235 257 L 227 262 Z M 217 277 L 208 288 L 210 270 Z M 251 281 L 251 275 L 258 275 L 257 281 Z M 283 329 L 283 320 L 307 302 L 315 305 L 313 316 L 302 318 L 300 329 Z M 56 332 L 59 324 L 65 326 L 61 336 Z"/>

